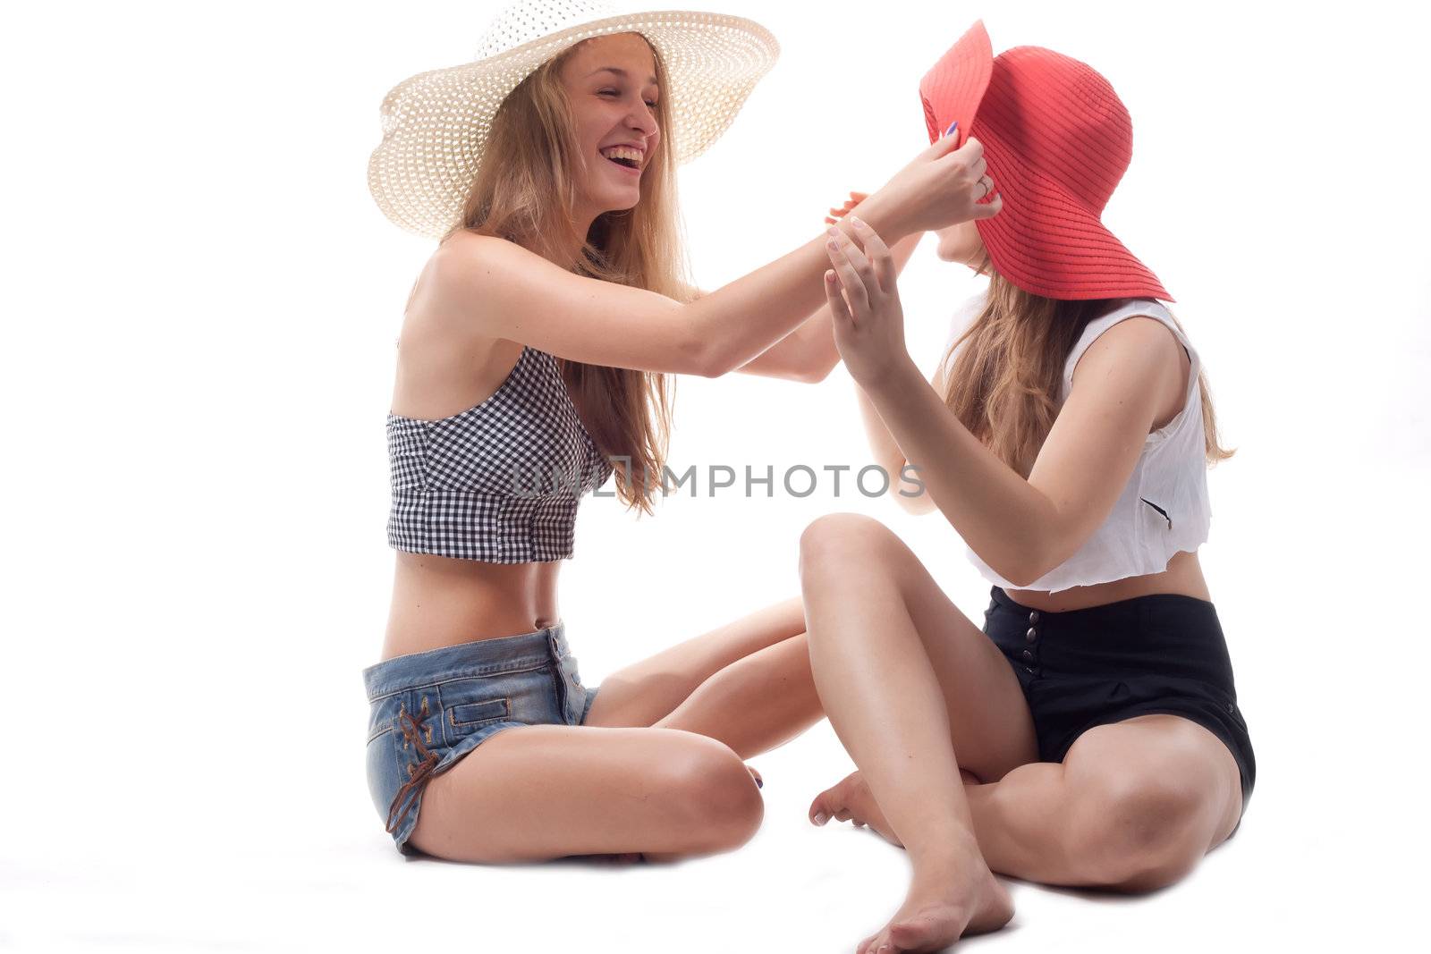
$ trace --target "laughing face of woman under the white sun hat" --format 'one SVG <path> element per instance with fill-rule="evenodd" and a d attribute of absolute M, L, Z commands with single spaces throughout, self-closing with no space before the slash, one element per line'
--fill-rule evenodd
<path fill-rule="evenodd" d="M 641 176 L 661 136 L 650 44 L 638 33 L 587 40 L 561 64 L 561 82 L 585 166 L 575 170 L 581 212 L 594 219 L 630 209 L 641 199 Z"/>

